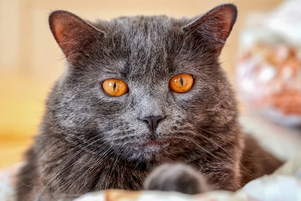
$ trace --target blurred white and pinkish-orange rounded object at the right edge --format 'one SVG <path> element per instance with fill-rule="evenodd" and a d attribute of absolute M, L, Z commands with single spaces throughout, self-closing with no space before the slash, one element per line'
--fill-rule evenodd
<path fill-rule="evenodd" d="M 301 125 L 301 13 L 295 8 L 301 8 L 301 1 L 250 16 L 236 66 L 248 111 L 285 126 Z"/>

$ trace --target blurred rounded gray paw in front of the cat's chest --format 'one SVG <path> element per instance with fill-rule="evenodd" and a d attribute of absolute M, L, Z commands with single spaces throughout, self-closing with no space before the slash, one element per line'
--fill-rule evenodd
<path fill-rule="evenodd" d="M 156 168 L 144 182 L 146 190 L 178 191 L 196 194 L 209 190 L 205 178 L 183 164 L 165 164 Z"/>

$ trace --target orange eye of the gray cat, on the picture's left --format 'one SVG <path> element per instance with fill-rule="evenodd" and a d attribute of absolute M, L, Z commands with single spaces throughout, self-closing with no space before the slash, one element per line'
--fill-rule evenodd
<path fill-rule="evenodd" d="M 107 79 L 102 82 L 103 90 L 111 96 L 120 96 L 127 92 L 127 85 L 118 79 Z"/>

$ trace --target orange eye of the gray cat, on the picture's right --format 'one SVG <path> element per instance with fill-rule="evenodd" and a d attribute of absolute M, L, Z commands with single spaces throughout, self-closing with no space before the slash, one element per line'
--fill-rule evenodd
<path fill-rule="evenodd" d="M 190 74 L 176 75 L 169 81 L 170 88 L 177 93 L 184 93 L 191 89 L 194 79 Z"/>

